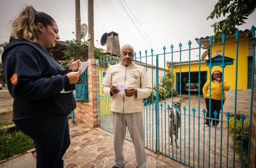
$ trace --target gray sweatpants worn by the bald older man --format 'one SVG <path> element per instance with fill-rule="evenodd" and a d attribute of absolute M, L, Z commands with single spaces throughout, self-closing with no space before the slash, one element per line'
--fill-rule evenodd
<path fill-rule="evenodd" d="M 138 168 L 146 168 L 147 158 L 144 149 L 143 113 L 122 114 L 112 112 L 112 125 L 114 132 L 115 164 L 124 167 L 124 138 L 126 126 L 128 127 L 135 148 Z"/>

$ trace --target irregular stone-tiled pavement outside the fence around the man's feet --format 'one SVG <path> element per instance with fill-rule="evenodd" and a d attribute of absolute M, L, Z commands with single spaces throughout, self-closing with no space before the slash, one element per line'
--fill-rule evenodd
<path fill-rule="evenodd" d="M 90 128 L 84 123 L 70 122 L 71 144 L 64 155 L 65 168 L 72 167 L 112 167 L 113 162 L 113 134 L 100 128 Z M 147 167 L 186 167 L 164 155 L 157 155 L 146 150 Z M 131 141 L 124 144 L 125 168 L 136 167 L 134 146 Z"/>

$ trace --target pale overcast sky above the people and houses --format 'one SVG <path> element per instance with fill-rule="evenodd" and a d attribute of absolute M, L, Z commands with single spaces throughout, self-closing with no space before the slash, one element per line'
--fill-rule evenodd
<path fill-rule="evenodd" d="M 88 24 L 87 1 L 81 0 L 81 24 Z M 214 9 L 216 0 L 94 0 L 94 39 L 99 44 L 104 32 L 115 31 L 119 34 L 120 46 L 131 44 L 136 52 L 154 49 L 154 53 L 170 52 L 170 45 L 179 50 L 188 48 L 191 40 L 211 36 L 211 25 L 216 20 L 206 20 Z M 76 38 L 75 0 L 1 0 L 0 1 L 0 43 L 8 41 L 10 22 L 25 4 L 32 4 L 37 11 L 44 11 L 56 20 L 60 40 Z M 250 15 L 240 30 L 251 29 L 256 25 L 256 13 Z M 87 39 L 87 36 L 85 37 Z M 193 53 L 195 57 L 196 53 Z M 163 60 L 163 58 L 161 58 Z M 167 60 L 170 57 L 166 58 Z M 177 60 L 178 58 L 176 58 Z"/>

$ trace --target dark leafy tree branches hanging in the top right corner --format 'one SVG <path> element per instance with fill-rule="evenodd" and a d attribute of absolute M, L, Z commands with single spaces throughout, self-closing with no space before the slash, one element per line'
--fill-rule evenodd
<path fill-rule="evenodd" d="M 222 32 L 226 35 L 234 34 L 237 30 L 236 25 L 245 24 L 244 20 L 248 19 L 248 16 L 255 11 L 255 8 L 255 0 L 219 0 L 207 20 L 209 18 L 220 18 L 221 15 L 223 17 L 228 16 L 211 25 L 214 27 L 214 41 L 220 41 Z"/>

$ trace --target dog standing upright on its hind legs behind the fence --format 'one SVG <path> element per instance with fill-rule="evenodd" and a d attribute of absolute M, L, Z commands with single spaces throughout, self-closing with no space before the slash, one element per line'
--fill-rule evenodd
<path fill-rule="evenodd" d="M 172 109 L 170 109 L 170 137 L 171 137 L 171 145 L 173 144 L 172 134 L 175 137 L 176 147 L 179 148 L 177 144 L 177 139 L 179 137 L 179 127 L 180 127 L 180 103 L 173 102 Z"/>

